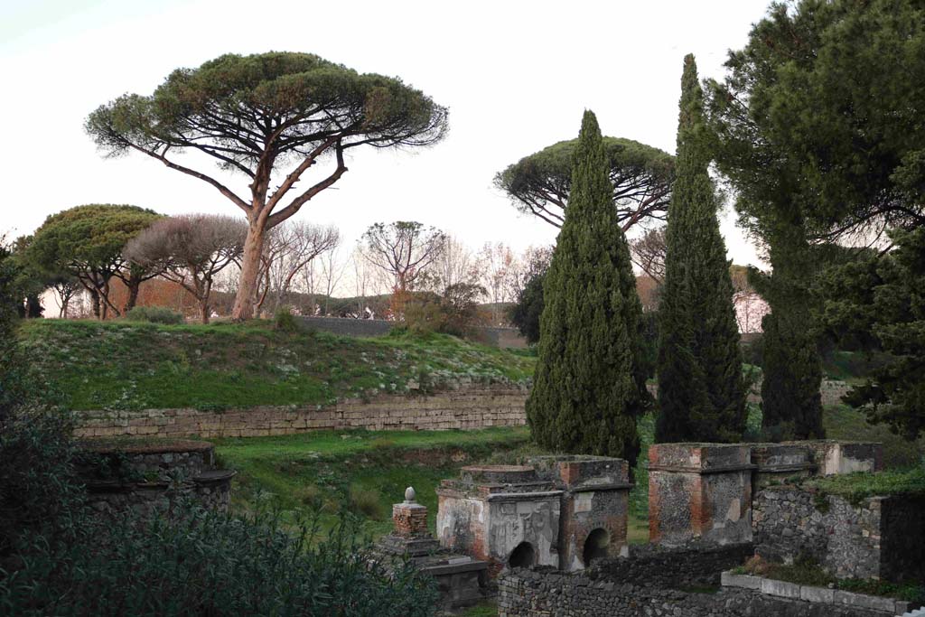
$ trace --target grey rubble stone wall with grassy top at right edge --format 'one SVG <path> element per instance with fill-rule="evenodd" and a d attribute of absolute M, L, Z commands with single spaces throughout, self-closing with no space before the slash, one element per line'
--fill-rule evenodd
<path fill-rule="evenodd" d="M 925 577 L 925 500 L 872 497 L 857 506 L 797 487 L 766 487 L 755 496 L 757 552 L 791 562 L 818 561 L 839 578 Z"/>

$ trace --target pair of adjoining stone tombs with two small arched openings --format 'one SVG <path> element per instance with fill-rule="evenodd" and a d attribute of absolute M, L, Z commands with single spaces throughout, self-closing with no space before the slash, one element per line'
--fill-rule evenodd
<path fill-rule="evenodd" d="M 629 471 L 622 459 L 536 457 L 463 467 L 438 487 L 440 545 L 505 566 L 578 570 L 626 544 Z"/>

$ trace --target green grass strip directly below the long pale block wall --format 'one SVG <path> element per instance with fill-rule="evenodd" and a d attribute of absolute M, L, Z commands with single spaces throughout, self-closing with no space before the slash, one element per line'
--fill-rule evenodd
<path fill-rule="evenodd" d="M 524 427 L 475 431 L 318 431 L 272 438 L 216 439 L 219 462 L 238 471 L 232 506 L 253 510 L 257 500 L 288 512 L 320 508 L 330 527 L 338 513 L 352 512 L 364 532 L 391 529 L 391 506 L 413 486 L 428 509 L 433 531 L 439 481 L 464 464 L 524 448 Z"/>

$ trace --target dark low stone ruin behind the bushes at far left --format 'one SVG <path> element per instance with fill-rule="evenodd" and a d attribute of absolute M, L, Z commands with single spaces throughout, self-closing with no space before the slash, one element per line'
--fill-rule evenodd
<path fill-rule="evenodd" d="M 85 441 L 78 461 L 99 516 L 164 513 L 179 500 L 228 510 L 235 472 L 216 469 L 215 447 L 205 441 Z"/>

